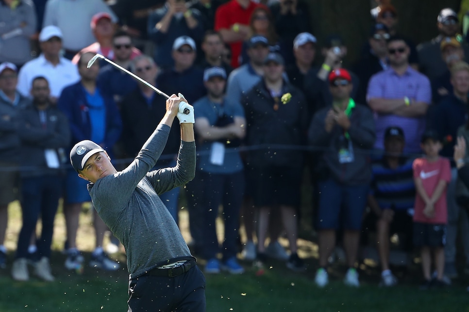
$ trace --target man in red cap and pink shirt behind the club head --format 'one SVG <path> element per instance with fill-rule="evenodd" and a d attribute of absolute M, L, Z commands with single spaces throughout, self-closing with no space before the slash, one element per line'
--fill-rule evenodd
<path fill-rule="evenodd" d="M 80 52 L 73 57 L 72 63 L 77 64 L 80 56 L 85 52 L 99 53 L 110 60 L 114 60 L 114 49 L 116 49 L 116 47 L 113 47 L 113 36 L 116 32 L 116 24 L 112 21 L 111 15 L 106 12 L 95 14 L 91 18 L 90 27 L 97 41 L 81 49 Z M 131 46 L 129 48 L 132 48 L 131 60 L 137 55 L 142 54 L 136 47 Z"/>

